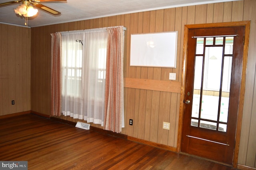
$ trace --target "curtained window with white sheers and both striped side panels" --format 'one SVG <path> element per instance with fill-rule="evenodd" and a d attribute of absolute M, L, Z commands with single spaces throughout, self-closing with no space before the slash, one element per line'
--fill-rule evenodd
<path fill-rule="evenodd" d="M 52 115 L 60 116 L 62 110 L 65 116 L 122 131 L 124 30 L 116 26 L 51 34 Z"/>

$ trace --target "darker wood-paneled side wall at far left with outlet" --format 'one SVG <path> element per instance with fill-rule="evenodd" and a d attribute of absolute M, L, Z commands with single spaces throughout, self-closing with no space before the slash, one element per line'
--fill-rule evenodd
<path fill-rule="evenodd" d="M 31 109 L 30 32 L 0 24 L 0 116 Z"/>

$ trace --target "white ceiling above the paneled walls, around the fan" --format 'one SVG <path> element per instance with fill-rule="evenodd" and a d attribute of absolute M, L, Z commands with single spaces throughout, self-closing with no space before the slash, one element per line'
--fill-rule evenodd
<path fill-rule="evenodd" d="M 0 3 L 12 0 L 0 0 Z M 234 0 L 67 0 L 67 2 L 41 2 L 41 4 L 61 12 L 60 16 L 53 16 L 42 10 L 38 15 L 28 20 L 29 27 L 37 27 L 104 16 L 209 4 Z M 0 7 L 0 23 L 24 26 L 24 17 L 14 13 L 21 3 Z"/>

